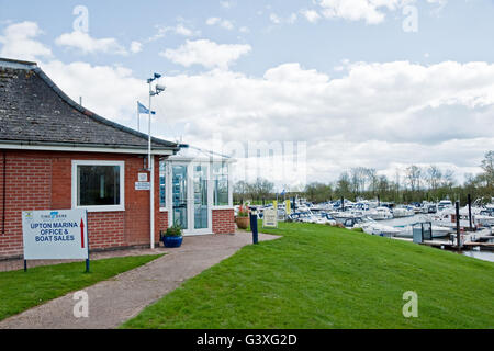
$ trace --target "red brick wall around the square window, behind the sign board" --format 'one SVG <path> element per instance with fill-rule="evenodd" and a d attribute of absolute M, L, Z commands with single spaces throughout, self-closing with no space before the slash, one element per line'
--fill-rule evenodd
<path fill-rule="evenodd" d="M 92 249 L 149 245 L 149 192 L 136 191 L 144 159 L 134 155 L 48 151 L 7 152 L 5 233 L 2 234 L 3 151 L 0 150 L 0 257 L 22 254 L 22 211 L 69 210 L 71 207 L 72 160 L 125 162 L 125 212 L 89 213 Z M 159 161 L 155 159 L 155 169 Z M 167 213 L 159 212 L 159 172 L 156 171 L 155 234 L 168 226 Z"/>

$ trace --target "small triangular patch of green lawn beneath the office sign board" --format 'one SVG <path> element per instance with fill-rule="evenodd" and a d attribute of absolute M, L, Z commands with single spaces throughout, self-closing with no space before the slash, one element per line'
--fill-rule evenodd
<path fill-rule="evenodd" d="M 161 256 L 124 257 L 91 261 L 91 273 L 83 262 L 64 263 L 0 273 L 0 320 L 31 307 L 93 285 Z"/>

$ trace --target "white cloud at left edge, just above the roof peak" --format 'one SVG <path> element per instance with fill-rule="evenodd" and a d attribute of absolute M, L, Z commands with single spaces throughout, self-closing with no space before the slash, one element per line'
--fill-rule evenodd
<path fill-rule="evenodd" d="M 0 56 L 14 59 L 36 60 L 53 56 L 52 49 L 35 41 L 43 34 L 37 23 L 21 22 L 7 26 L 0 36 Z"/>

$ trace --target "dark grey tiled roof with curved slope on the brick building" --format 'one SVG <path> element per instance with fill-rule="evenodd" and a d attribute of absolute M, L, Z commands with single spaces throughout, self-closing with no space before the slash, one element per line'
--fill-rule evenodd
<path fill-rule="evenodd" d="M 36 64 L 0 58 L 2 143 L 146 149 L 148 136 L 77 104 Z M 153 148 L 179 149 L 158 138 Z"/>

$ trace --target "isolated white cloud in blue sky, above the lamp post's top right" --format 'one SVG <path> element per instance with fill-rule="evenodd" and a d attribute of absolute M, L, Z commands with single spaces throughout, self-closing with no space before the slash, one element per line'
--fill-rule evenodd
<path fill-rule="evenodd" d="M 205 68 L 227 69 L 232 63 L 250 50 L 250 45 L 216 44 L 207 39 L 200 39 L 187 41 L 179 48 L 167 49 L 160 55 L 184 67 L 202 65 Z"/>

